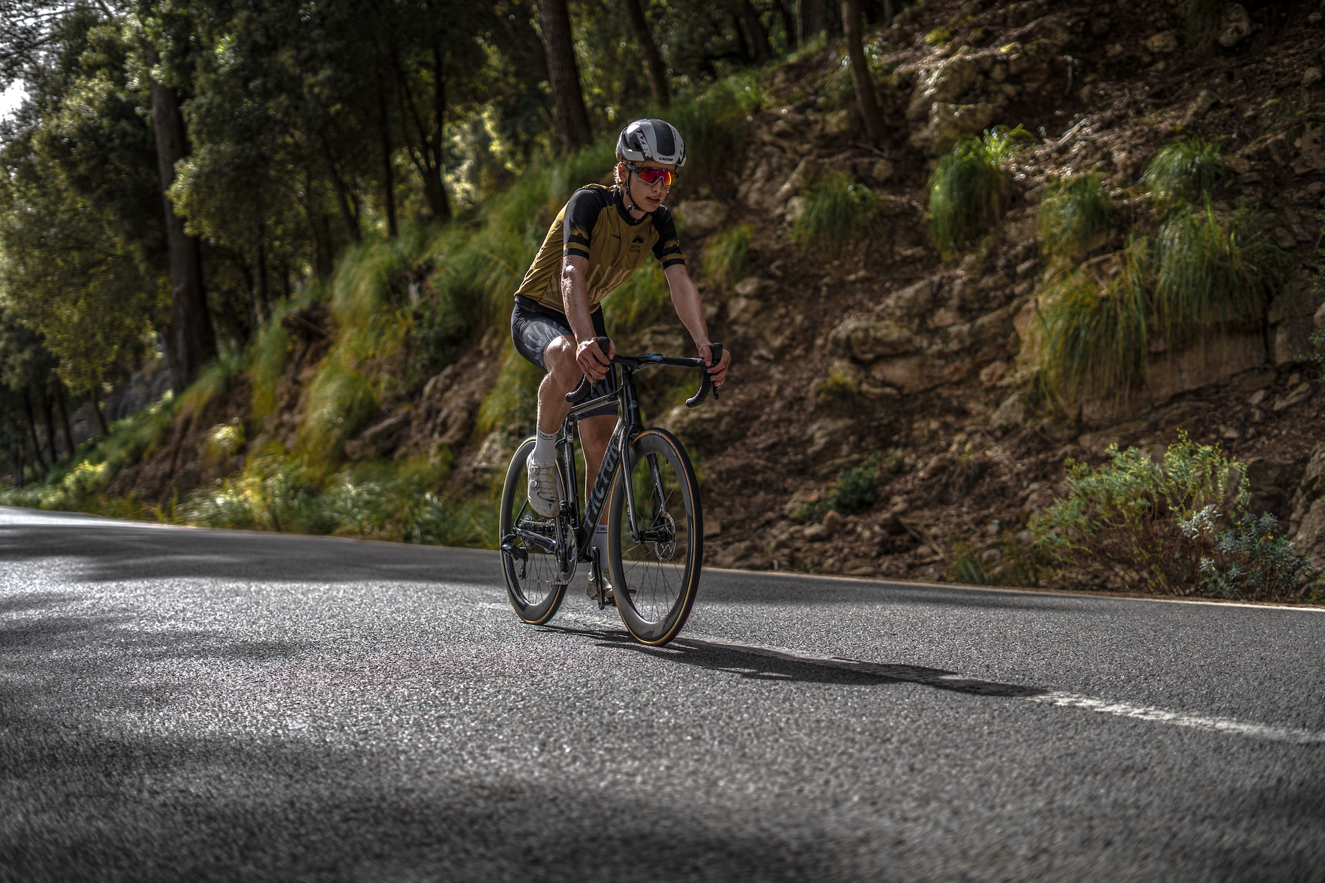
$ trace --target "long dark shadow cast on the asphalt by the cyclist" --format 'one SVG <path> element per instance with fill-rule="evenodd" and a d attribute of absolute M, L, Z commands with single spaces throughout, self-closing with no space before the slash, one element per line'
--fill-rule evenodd
<path fill-rule="evenodd" d="M 568 626 L 543 627 L 596 638 L 600 647 L 631 650 L 653 657 L 655 659 L 678 662 L 709 671 L 722 671 L 753 680 L 857 687 L 917 683 L 949 692 L 961 692 L 971 696 L 1002 696 L 1007 699 L 1027 699 L 1031 696 L 1043 696 L 1049 692 L 1043 687 L 967 678 L 953 671 L 928 669 L 925 666 L 885 665 L 860 659 L 806 658 L 768 647 L 750 647 L 698 638 L 677 638 L 665 647 L 649 647 L 636 643 L 624 631 L 572 629 Z"/>

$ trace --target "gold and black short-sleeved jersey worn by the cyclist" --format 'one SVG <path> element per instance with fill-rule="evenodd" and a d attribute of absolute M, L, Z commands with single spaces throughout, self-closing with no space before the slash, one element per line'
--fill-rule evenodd
<path fill-rule="evenodd" d="M 617 187 L 590 184 L 575 191 L 556 214 L 538 257 L 525 274 L 517 295 L 533 298 L 543 306 L 564 312 L 562 304 L 562 259 L 567 254 L 588 258 L 584 278 L 588 308 L 595 310 L 603 298 L 619 289 L 652 250 L 664 269 L 685 263 L 676 221 L 665 205 L 636 221 L 625 210 Z"/>

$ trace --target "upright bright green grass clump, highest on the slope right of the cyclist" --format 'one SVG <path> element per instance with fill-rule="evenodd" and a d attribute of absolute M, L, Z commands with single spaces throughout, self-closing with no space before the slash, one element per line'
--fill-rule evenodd
<path fill-rule="evenodd" d="M 994 226 L 1011 195 L 1008 163 L 1024 130 L 998 127 L 953 146 L 929 176 L 929 236 L 945 257 Z"/>

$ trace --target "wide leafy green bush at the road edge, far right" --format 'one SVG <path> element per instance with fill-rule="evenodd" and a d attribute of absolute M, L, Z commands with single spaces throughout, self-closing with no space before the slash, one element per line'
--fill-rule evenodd
<path fill-rule="evenodd" d="M 1218 446 L 1182 436 L 1162 463 L 1112 446 L 1097 469 L 1068 461 L 1067 496 L 1032 516 L 1031 532 L 1060 565 L 1130 589 L 1283 596 L 1297 573 L 1291 544 L 1265 519 L 1247 520 L 1249 499 L 1246 467 Z"/>

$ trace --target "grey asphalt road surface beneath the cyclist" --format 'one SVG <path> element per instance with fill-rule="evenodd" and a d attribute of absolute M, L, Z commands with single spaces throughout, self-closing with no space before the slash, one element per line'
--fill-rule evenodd
<path fill-rule="evenodd" d="M 1325 879 L 1325 614 L 0 510 L 3 880 Z"/>

